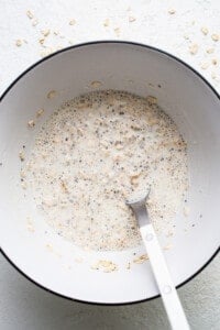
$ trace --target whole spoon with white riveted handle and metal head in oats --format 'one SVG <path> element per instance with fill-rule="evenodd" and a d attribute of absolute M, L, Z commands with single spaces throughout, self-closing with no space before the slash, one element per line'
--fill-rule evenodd
<path fill-rule="evenodd" d="M 146 248 L 151 266 L 158 286 L 158 290 L 166 309 L 168 320 L 174 330 L 188 330 L 189 326 L 182 307 L 177 290 L 168 272 L 164 255 L 156 238 L 154 228 L 150 221 L 146 209 L 146 200 L 150 191 L 140 199 L 127 200 L 127 205 L 133 210 L 139 222 L 140 232 Z"/>

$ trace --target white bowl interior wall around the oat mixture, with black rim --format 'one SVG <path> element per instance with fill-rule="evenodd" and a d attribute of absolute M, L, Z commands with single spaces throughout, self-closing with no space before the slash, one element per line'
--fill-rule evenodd
<path fill-rule="evenodd" d="M 0 240 L 3 254 L 41 287 L 81 301 L 125 304 L 158 295 L 148 262 L 125 264 L 132 253 L 89 253 L 58 237 L 36 213 L 20 185 L 19 152 L 29 153 L 34 136 L 64 100 L 92 89 L 153 95 L 177 123 L 189 148 L 189 217 L 177 215 L 173 249 L 165 252 L 175 285 L 195 276 L 219 246 L 220 99 L 191 67 L 160 50 L 129 42 L 94 42 L 53 54 L 24 72 L 3 94 L 0 105 Z M 56 90 L 55 98 L 46 97 Z M 45 114 L 34 130 L 26 122 Z M 166 188 L 166 187 L 165 187 Z M 31 220 L 28 220 L 30 217 Z M 31 222 L 30 222 L 31 221 Z M 194 224 L 194 227 L 191 227 Z M 189 228 L 187 231 L 184 229 Z M 80 262 L 79 258 L 82 258 Z M 94 271 L 98 260 L 119 265 L 112 273 Z"/>

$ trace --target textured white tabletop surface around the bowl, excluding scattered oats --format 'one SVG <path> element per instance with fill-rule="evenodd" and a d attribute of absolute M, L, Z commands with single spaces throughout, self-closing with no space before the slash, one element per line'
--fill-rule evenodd
<path fill-rule="evenodd" d="M 174 14 L 168 10 L 175 9 Z M 26 16 L 31 10 L 34 19 Z M 129 18 L 134 18 L 133 22 Z M 197 68 L 220 90 L 220 3 L 194 1 L 30 1 L 0 2 L 0 92 L 42 53 L 92 40 L 131 40 L 170 52 Z M 32 22 L 38 20 L 36 26 Z M 75 19 L 76 24 L 69 25 Z M 109 24 L 106 21 L 109 19 Z M 105 26 L 105 22 L 108 26 Z M 209 30 L 207 35 L 200 31 Z M 51 29 L 44 48 L 41 30 Z M 54 31 L 59 32 L 54 35 Z M 15 45 L 22 40 L 22 45 Z M 25 40 L 26 43 L 23 41 Z M 198 45 L 191 55 L 189 46 Z M 207 54 L 213 48 L 212 54 Z M 212 64 L 217 59 L 217 65 Z M 201 66 L 207 67 L 202 69 Z M 193 329 L 220 328 L 219 256 L 179 289 Z M 12 329 L 168 329 L 161 299 L 125 307 L 97 307 L 55 297 L 32 285 L 1 257 L 0 328 Z"/>

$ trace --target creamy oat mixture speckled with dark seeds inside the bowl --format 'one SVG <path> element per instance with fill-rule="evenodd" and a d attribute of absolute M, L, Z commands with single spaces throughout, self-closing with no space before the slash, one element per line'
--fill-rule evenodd
<path fill-rule="evenodd" d="M 57 234 L 91 250 L 140 244 L 124 200 L 151 186 L 157 232 L 169 234 L 188 186 L 187 146 L 154 97 L 94 91 L 65 102 L 43 125 L 25 180 Z"/>

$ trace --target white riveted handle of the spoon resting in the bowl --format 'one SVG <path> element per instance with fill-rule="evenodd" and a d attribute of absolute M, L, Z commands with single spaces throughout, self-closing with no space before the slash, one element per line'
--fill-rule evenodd
<path fill-rule="evenodd" d="M 140 228 L 150 263 L 173 330 L 189 330 L 177 290 L 169 275 L 156 233 L 151 223 Z"/>

